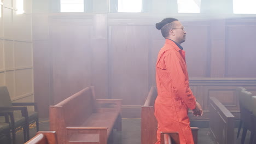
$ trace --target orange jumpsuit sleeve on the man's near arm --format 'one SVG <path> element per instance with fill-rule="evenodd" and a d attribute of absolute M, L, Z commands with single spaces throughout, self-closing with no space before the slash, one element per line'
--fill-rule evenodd
<path fill-rule="evenodd" d="M 177 92 L 177 97 L 182 98 L 185 105 L 190 110 L 195 109 L 195 97 L 189 88 L 189 80 L 187 74 L 187 68 L 178 56 L 179 53 L 167 52 L 164 58 L 165 67 L 168 73 L 170 82 L 172 83 L 172 91 Z"/>

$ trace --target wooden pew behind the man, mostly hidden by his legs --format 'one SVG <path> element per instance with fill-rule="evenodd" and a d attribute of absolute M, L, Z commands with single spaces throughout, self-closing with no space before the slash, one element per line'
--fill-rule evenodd
<path fill-rule="evenodd" d="M 141 144 L 155 144 L 158 122 L 154 112 L 155 99 L 158 96 L 156 87 L 150 88 L 144 106 L 141 107 Z M 191 127 L 194 143 L 197 144 L 197 127 Z"/>

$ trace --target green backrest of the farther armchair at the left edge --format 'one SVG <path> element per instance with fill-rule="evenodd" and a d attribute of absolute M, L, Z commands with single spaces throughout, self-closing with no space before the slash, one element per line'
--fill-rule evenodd
<path fill-rule="evenodd" d="M 11 103 L 10 95 L 6 86 L 0 87 L 0 107 L 13 106 Z"/>

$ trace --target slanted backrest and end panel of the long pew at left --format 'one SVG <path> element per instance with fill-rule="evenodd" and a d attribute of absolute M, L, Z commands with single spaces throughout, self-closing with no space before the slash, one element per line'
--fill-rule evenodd
<path fill-rule="evenodd" d="M 50 106 L 50 130 L 56 131 L 58 140 L 65 141 L 66 127 L 82 124 L 95 111 L 94 87 L 86 87 L 61 101 Z"/>

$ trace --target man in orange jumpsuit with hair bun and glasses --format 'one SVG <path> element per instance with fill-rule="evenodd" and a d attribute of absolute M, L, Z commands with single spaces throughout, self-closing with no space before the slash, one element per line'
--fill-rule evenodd
<path fill-rule="evenodd" d="M 188 109 L 193 110 L 195 116 L 201 116 L 203 111 L 189 88 L 185 51 L 181 46 L 186 32 L 182 23 L 173 18 L 156 23 L 156 28 L 161 29 L 162 36 L 166 39 L 156 62 L 156 144 L 160 143 L 160 131 L 178 131 L 181 144 L 194 144 Z"/>

